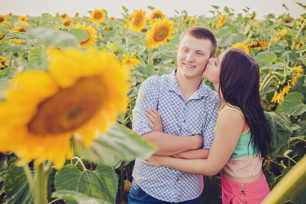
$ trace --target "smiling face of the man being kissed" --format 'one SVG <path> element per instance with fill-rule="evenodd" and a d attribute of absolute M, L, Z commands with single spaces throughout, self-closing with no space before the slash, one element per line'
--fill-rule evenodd
<path fill-rule="evenodd" d="M 176 73 L 188 79 L 200 79 L 210 58 L 211 42 L 185 35 L 177 48 Z"/>

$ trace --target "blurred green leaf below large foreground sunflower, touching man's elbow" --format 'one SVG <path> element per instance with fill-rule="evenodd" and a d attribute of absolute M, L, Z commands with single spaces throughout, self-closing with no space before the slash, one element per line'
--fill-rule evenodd
<path fill-rule="evenodd" d="M 133 160 L 149 157 L 156 151 L 152 144 L 122 125 L 112 126 L 106 135 L 99 134 L 92 146 L 87 148 L 80 136 L 74 136 L 74 146 L 85 159 L 109 166 L 116 162 L 117 157 Z"/>

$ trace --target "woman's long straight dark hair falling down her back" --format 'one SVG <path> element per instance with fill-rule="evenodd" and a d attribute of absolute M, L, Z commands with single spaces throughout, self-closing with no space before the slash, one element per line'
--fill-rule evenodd
<path fill-rule="evenodd" d="M 221 100 L 241 109 L 250 128 L 254 151 L 262 158 L 270 142 L 267 123 L 259 94 L 259 67 L 253 57 L 233 48 L 226 52 L 220 65 L 219 95 Z"/>

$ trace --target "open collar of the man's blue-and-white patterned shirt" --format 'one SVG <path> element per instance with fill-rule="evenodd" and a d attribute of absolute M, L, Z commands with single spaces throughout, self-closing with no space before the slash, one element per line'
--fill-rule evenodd
<path fill-rule="evenodd" d="M 177 69 L 177 68 L 176 68 Z M 175 91 L 176 94 L 178 95 L 182 95 L 180 89 L 179 89 L 179 86 L 178 86 L 178 83 L 177 83 L 177 80 L 176 80 L 176 76 L 175 76 L 175 73 L 176 73 L 176 69 L 173 70 L 170 74 L 169 74 L 169 82 L 168 82 L 168 89 L 169 91 Z M 206 97 L 208 96 L 208 90 L 207 90 L 207 86 L 204 84 L 203 80 L 201 79 L 201 83 L 200 83 L 200 87 L 198 88 L 198 90 L 195 92 L 196 93 L 196 96 L 198 98 L 201 98 L 201 97 Z"/>

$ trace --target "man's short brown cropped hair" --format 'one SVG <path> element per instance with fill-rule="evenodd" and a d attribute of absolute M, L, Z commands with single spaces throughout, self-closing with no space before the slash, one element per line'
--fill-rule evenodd
<path fill-rule="evenodd" d="M 210 51 L 210 57 L 214 56 L 217 52 L 217 39 L 214 33 L 204 26 L 193 26 L 182 32 L 180 38 L 179 38 L 179 44 L 181 44 L 181 41 L 185 35 L 190 35 L 196 39 L 207 39 L 211 42 L 212 47 Z"/>

